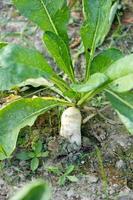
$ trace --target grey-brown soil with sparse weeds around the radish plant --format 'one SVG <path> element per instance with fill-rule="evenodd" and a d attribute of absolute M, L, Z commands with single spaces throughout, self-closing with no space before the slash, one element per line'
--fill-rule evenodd
<path fill-rule="evenodd" d="M 111 32 L 98 51 L 108 46 L 119 47 L 125 54 L 133 52 L 133 2 L 122 1 L 118 18 Z M 79 26 L 82 21 L 81 5 L 73 8 L 69 25 L 71 51 L 75 59 L 77 76 L 83 74 L 84 59 L 80 51 Z M 53 61 L 41 43 L 42 32 L 14 9 L 9 0 L 0 0 L 0 40 L 35 46 Z M 78 58 L 78 61 L 77 61 Z M 56 66 L 53 65 L 55 70 Z M 0 95 L 0 107 L 18 95 L 46 96 L 49 91 L 42 88 L 21 88 Z M 60 111 L 61 112 L 61 111 Z M 0 163 L 0 200 L 7 200 L 26 182 L 42 178 L 52 188 L 52 200 L 128 200 L 133 199 L 133 136 L 130 136 L 109 105 L 104 94 L 97 96 L 82 110 L 82 148 L 72 152 L 70 145 L 58 136 L 59 110 L 40 116 L 33 127 L 21 130 L 14 155 Z M 90 118 L 90 115 L 92 116 Z M 89 116 L 89 119 L 88 119 Z M 16 155 L 29 151 L 34 141 L 43 141 L 43 150 L 49 151 L 48 158 L 40 159 L 35 172 L 30 170 L 29 161 L 20 161 Z M 77 182 L 66 181 L 59 185 L 60 176 L 49 172 L 49 167 L 58 167 L 62 173 L 74 165 L 72 175 Z M 65 172 L 65 170 L 64 170 Z"/>

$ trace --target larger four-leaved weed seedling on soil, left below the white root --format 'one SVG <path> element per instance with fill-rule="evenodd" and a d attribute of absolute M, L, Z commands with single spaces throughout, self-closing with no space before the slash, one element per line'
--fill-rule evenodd
<path fill-rule="evenodd" d="M 42 151 L 42 142 L 38 141 L 32 145 L 32 150 L 22 151 L 16 155 L 19 160 L 30 160 L 30 168 L 35 171 L 39 167 L 39 162 L 41 158 L 48 157 L 48 151 Z"/>

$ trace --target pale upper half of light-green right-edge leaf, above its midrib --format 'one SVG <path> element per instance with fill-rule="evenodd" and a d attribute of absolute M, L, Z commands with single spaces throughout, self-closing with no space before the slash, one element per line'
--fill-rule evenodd
<path fill-rule="evenodd" d="M 131 73 L 133 73 L 133 54 L 120 58 L 105 71 L 105 74 L 111 80 L 116 80 Z"/>

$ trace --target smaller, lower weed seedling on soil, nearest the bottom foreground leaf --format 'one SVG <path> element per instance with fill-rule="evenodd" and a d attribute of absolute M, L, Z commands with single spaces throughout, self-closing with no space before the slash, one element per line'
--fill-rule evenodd
<path fill-rule="evenodd" d="M 51 166 L 48 168 L 48 172 L 59 176 L 58 183 L 59 185 L 63 186 L 67 181 L 78 182 L 78 178 L 75 175 L 71 175 L 74 171 L 74 168 L 74 165 L 67 166 L 65 170 Z"/>

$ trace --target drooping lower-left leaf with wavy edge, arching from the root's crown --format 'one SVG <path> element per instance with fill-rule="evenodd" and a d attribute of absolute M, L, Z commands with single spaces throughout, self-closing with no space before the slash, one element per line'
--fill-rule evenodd
<path fill-rule="evenodd" d="M 17 100 L 0 110 L 0 160 L 14 151 L 21 128 L 33 125 L 37 116 L 56 107 L 71 105 L 56 98 L 33 98 Z"/>

